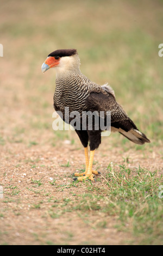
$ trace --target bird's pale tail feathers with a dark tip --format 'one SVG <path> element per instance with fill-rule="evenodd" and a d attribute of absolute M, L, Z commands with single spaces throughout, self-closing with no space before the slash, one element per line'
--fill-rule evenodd
<path fill-rule="evenodd" d="M 130 131 L 124 131 L 122 129 L 119 129 L 119 132 L 128 138 L 130 141 L 142 145 L 147 143 L 150 143 L 149 139 L 146 137 L 146 135 L 142 132 L 140 132 L 137 129 L 131 129 Z"/>

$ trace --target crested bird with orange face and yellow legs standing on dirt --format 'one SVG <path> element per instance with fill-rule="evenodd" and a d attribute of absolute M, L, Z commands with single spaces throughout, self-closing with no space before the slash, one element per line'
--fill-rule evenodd
<path fill-rule="evenodd" d="M 80 114 L 72 126 L 84 147 L 85 172 L 74 173 L 74 181 L 96 181 L 95 175 L 101 174 L 97 170 L 92 170 L 92 164 L 95 150 L 101 144 L 101 133 L 104 129 L 106 130 L 106 127 L 104 125 L 104 127 L 96 129 L 96 118 L 93 116 L 92 127 L 89 129 L 86 121 L 83 128 L 82 120 L 85 113 L 99 114 L 103 112 L 101 119 L 106 124 L 107 113 L 110 112 L 111 132 L 119 132 L 136 144 L 150 143 L 146 135 L 137 129 L 134 122 L 116 101 L 112 87 L 108 84 L 101 86 L 82 74 L 80 71 L 80 58 L 76 49 L 60 49 L 48 54 L 41 66 L 41 70 L 44 73 L 50 68 L 54 68 L 56 71 L 53 97 L 55 111 L 59 113 L 62 120 L 69 124 L 74 121 L 74 116 L 67 118 L 65 109 L 68 109 L 68 114 L 72 112 Z M 79 129 L 76 127 L 77 121 L 80 121 Z"/>

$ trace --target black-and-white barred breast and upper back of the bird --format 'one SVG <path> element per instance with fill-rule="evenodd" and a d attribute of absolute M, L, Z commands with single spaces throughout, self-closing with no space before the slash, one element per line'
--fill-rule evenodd
<path fill-rule="evenodd" d="M 92 90 L 101 90 L 101 86 L 93 83 L 80 71 L 66 72 L 64 76 L 58 76 L 56 79 L 54 93 L 54 108 L 57 111 L 64 111 L 69 107 L 70 112 L 86 111 L 86 98 Z"/>

